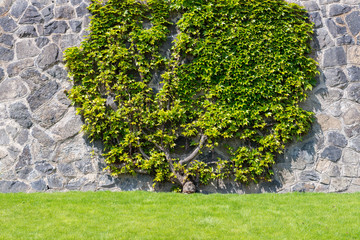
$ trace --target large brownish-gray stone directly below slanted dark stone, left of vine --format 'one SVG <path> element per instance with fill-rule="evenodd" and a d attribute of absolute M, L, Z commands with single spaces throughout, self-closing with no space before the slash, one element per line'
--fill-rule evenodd
<path fill-rule="evenodd" d="M 67 106 L 55 101 L 44 104 L 34 114 L 33 119 L 43 128 L 49 128 L 57 123 L 66 113 Z"/>

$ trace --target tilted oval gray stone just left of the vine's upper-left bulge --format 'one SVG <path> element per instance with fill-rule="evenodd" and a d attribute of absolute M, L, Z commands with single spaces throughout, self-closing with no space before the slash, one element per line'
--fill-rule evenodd
<path fill-rule="evenodd" d="M 50 44 L 46 46 L 39 57 L 36 59 L 36 63 L 42 70 L 46 70 L 52 67 L 54 64 L 61 60 L 61 54 L 56 44 Z"/>

